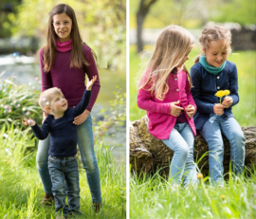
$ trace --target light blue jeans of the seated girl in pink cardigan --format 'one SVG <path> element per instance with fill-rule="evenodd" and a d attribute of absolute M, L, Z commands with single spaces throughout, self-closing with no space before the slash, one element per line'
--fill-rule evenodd
<path fill-rule="evenodd" d="M 174 178 L 173 184 L 180 184 L 183 175 L 185 186 L 197 183 L 196 164 L 193 162 L 194 137 L 189 123 L 175 124 L 169 139 L 162 141 L 174 151 L 169 173 L 169 178 Z"/>

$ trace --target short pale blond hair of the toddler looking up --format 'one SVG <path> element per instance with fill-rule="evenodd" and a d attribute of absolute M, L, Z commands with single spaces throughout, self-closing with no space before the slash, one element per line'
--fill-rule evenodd
<path fill-rule="evenodd" d="M 46 110 L 46 106 L 50 106 L 50 101 L 53 100 L 56 95 L 63 95 L 62 90 L 58 87 L 52 87 L 43 91 L 38 100 L 40 107 Z"/>

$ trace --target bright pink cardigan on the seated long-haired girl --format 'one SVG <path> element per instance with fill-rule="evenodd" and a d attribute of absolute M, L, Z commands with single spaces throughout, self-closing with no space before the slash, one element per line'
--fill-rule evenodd
<path fill-rule="evenodd" d="M 176 122 L 176 118 L 171 113 L 171 102 L 178 101 L 177 106 L 184 109 L 192 104 L 196 110 L 196 105 L 192 99 L 190 82 L 185 71 L 178 71 L 176 75 L 170 74 L 169 92 L 165 95 L 164 100 L 158 100 L 151 96 L 150 91 L 144 89 L 138 90 L 137 106 L 147 111 L 149 118 L 149 132 L 158 139 L 168 139 Z M 196 136 L 196 129 L 193 119 L 186 118 L 192 128 L 192 133 Z"/>

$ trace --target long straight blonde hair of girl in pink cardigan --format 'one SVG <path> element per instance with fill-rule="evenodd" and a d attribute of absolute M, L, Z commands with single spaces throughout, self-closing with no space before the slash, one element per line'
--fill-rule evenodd
<path fill-rule="evenodd" d="M 158 100 L 164 100 L 169 90 L 168 79 L 172 71 L 181 63 L 185 55 L 192 50 L 192 34 L 183 27 L 169 26 L 164 28 L 156 40 L 155 49 L 146 67 L 146 72 L 138 81 L 137 89 L 151 91 Z M 183 64 L 183 70 L 191 76 Z M 191 84 L 192 85 L 192 84 Z"/>

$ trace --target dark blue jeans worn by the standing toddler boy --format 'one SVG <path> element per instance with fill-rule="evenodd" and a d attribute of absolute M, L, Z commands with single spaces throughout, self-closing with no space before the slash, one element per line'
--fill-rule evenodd
<path fill-rule="evenodd" d="M 48 170 L 52 182 L 55 211 L 60 215 L 80 213 L 79 170 L 76 156 L 58 158 L 48 156 Z M 68 206 L 65 197 L 68 197 Z"/>

